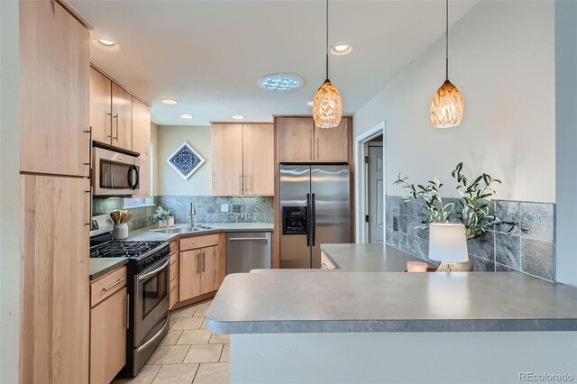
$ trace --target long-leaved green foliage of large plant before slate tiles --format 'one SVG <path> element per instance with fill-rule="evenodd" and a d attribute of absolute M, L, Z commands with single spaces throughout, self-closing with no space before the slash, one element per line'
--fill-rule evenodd
<path fill-rule="evenodd" d="M 491 178 L 489 174 L 482 173 L 475 178 L 463 175 L 463 162 L 451 172 L 451 176 L 457 181 L 457 191 L 461 198 L 456 203 L 443 200 L 440 189 L 443 183 L 438 178 L 429 180 L 428 184 L 409 184 L 408 178 L 402 178 L 398 174 L 394 185 L 408 188 L 409 195 L 403 197 L 406 202 L 415 201 L 421 207 L 421 228 L 428 231 L 430 224 L 435 223 L 459 223 L 464 225 L 466 239 L 473 239 L 483 233 L 494 231 L 495 225 L 508 225 L 507 233 L 519 228 L 523 233 L 527 230 L 520 228 L 518 223 L 504 221 L 499 218 L 499 213 L 490 209 L 491 197 L 495 195 L 493 186 L 501 184 L 497 178 Z M 469 264 L 472 263 L 469 261 Z M 469 268 L 469 265 L 463 268 Z"/>

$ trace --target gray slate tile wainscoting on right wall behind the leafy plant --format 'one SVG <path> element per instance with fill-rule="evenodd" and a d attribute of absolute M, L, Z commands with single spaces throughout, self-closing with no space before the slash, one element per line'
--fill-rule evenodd
<path fill-rule="evenodd" d="M 444 204 L 454 201 L 454 198 L 443 199 Z M 516 229 L 507 233 L 508 226 L 499 225 L 494 232 L 469 240 L 467 245 L 474 270 L 517 270 L 553 281 L 555 205 L 509 200 L 495 200 L 490 204 L 502 220 L 520 223 L 528 232 Z M 428 259 L 428 232 L 420 229 L 421 217 L 416 202 L 406 203 L 402 197 L 387 196 L 386 215 L 387 244 L 438 264 Z M 394 229 L 394 222 L 398 223 L 398 230 Z"/>

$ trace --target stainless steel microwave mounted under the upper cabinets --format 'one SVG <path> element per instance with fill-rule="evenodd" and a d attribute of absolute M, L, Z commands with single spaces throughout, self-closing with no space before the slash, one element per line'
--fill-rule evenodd
<path fill-rule="evenodd" d="M 94 196 L 125 197 L 138 195 L 139 154 L 111 149 L 92 149 L 92 190 Z"/>

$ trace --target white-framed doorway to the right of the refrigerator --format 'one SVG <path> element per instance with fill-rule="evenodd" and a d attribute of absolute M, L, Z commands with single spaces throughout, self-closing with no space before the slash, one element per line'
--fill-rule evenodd
<path fill-rule="evenodd" d="M 357 135 L 354 142 L 355 242 L 383 242 L 385 237 L 384 198 L 386 195 L 385 122 L 378 123 L 364 133 Z M 370 177 L 371 155 L 375 159 L 372 178 Z M 372 192 L 371 179 L 374 182 Z M 371 198 L 373 199 L 372 204 Z"/>

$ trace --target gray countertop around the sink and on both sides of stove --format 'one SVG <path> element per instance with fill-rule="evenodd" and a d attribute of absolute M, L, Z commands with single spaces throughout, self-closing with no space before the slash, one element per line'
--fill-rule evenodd
<path fill-rule="evenodd" d="M 201 236 L 207 233 L 220 232 L 272 232 L 274 224 L 272 223 L 206 223 L 203 225 L 211 227 L 208 230 L 202 230 L 193 233 L 159 233 L 151 229 L 157 229 L 156 225 L 133 231 L 129 234 L 127 240 L 148 240 L 159 242 L 171 242 L 179 237 Z M 184 227 L 186 224 L 177 224 L 175 227 Z M 106 273 L 118 269 L 128 261 L 125 258 L 90 258 L 90 281 L 104 276 Z"/>

